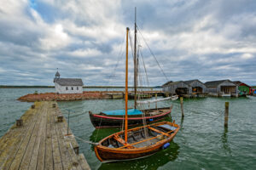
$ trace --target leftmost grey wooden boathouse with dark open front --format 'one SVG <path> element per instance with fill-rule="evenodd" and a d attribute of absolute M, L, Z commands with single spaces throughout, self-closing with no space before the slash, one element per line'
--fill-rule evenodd
<path fill-rule="evenodd" d="M 192 94 L 192 88 L 189 84 L 178 81 L 178 82 L 166 82 L 162 86 L 163 92 L 169 93 L 171 95 L 177 94 L 184 97 L 189 97 Z"/>

